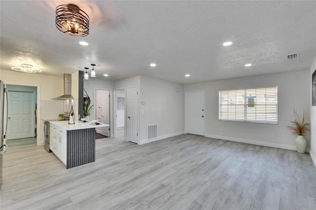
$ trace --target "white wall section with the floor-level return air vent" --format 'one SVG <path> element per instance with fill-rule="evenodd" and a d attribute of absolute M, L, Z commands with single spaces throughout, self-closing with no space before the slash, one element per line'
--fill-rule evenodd
<path fill-rule="evenodd" d="M 184 133 L 182 84 L 141 76 L 140 92 L 140 144 Z M 153 123 L 158 124 L 158 138 L 147 140 L 147 125 Z"/>

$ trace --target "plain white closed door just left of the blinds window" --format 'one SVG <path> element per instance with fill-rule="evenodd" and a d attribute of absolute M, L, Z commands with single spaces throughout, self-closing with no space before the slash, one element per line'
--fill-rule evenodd
<path fill-rule="evenodd" d="M 204 136 L 204 91 L 186 92 L 186 133 Z"/>

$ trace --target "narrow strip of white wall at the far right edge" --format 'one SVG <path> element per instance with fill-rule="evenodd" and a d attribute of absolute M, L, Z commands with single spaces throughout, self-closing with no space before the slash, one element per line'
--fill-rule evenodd
<path fill-rule="evenodd" d="M 316 58 L 310 68 L 310 90 L 312 90 L 312 74 L 316 70 Z M 310 91 L 310 117 L 311 117 L 311 148 L 310 155 L 316 167 L 316 106 L 312 106 L 312 91 Z"/>

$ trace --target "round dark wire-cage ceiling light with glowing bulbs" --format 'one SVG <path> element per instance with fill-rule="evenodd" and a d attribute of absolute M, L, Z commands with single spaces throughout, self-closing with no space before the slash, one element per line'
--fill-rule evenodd
<path fill-rule="evenodd" d="M 56 28 L 67 35 L 89 35 L 89 16 L 75 4 L 56 7 Z"/>

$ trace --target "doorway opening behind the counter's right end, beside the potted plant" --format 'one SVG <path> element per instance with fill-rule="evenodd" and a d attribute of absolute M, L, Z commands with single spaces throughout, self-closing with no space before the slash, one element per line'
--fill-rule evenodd
<path fill-rule="evenodd" d="M 110 90 L 95 90 L 94 95 L 94 119 L 101 123 L 110 125 Z M 96 128 L 96 139 L 108 138 L 111 136 L 110 127 Z"/>

